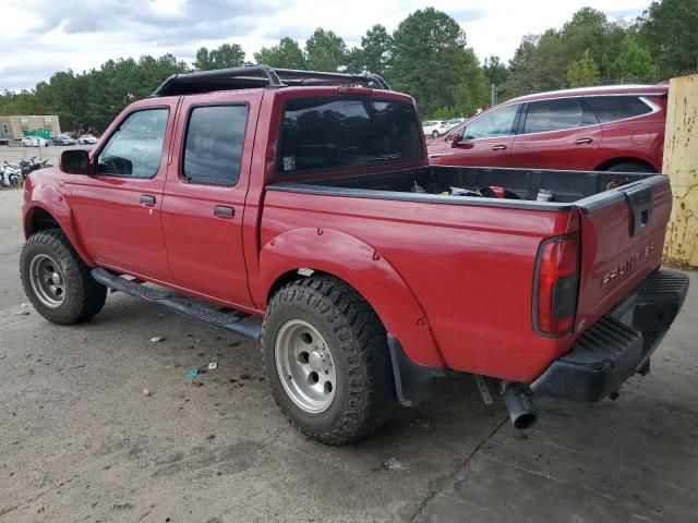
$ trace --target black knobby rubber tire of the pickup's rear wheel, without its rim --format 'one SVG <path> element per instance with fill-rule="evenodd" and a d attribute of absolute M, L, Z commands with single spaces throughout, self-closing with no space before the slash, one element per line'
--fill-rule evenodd
<path fill-rule="evenodd" d="M 297 319 L 322 335 L 336 368 L 335 396 L 318 414 L 293 402 L 277 372 L 277 335 L 285 324 Z M 301 433 L 323 443 L 364 438 L 385 424 L 397 405 L 385 328 L 369 303 L 336 278 L 305 278 L 274 294 L 262 326 L 262 357 L 281 412 Z"/>

